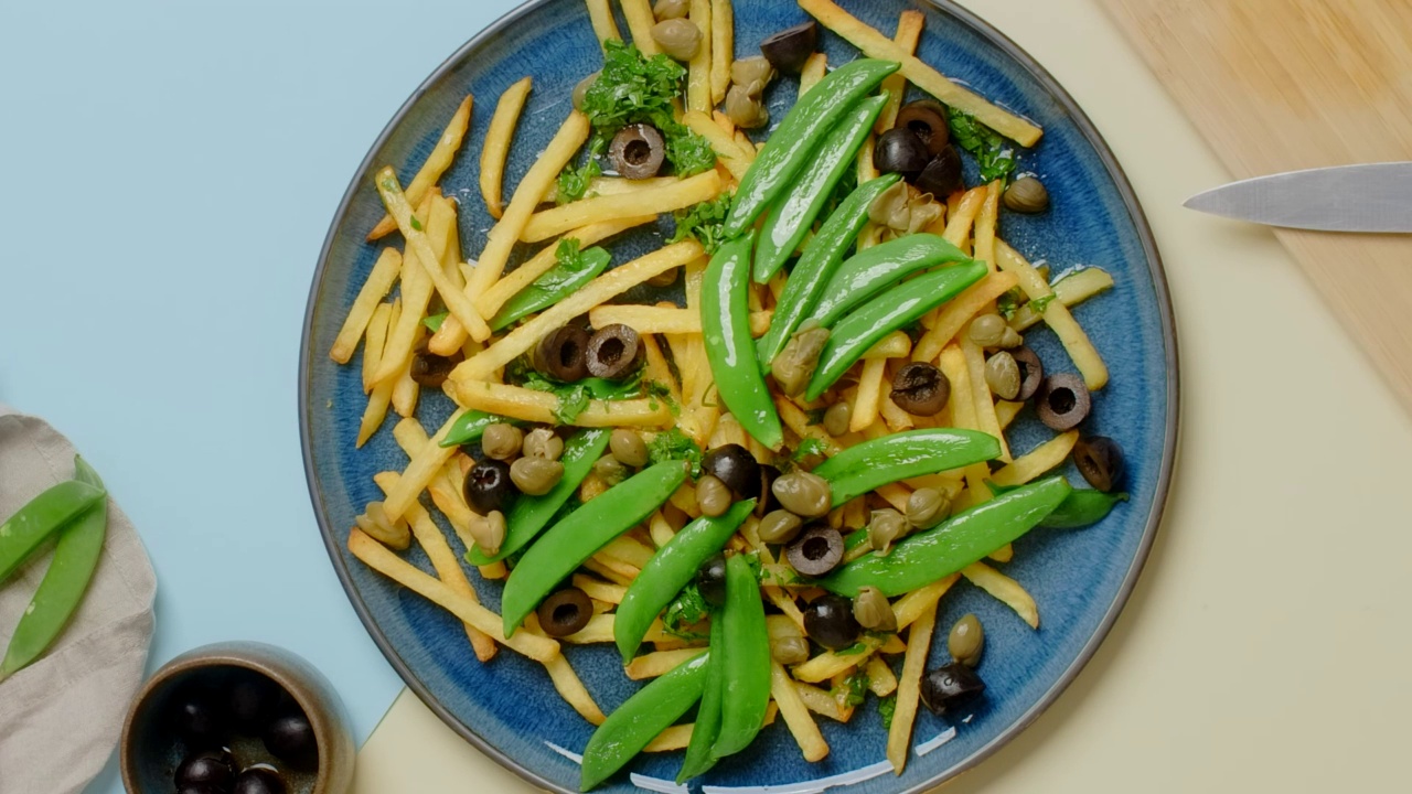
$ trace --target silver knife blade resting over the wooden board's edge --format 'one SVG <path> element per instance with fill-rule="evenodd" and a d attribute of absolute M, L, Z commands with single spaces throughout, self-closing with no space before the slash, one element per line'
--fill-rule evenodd
<path fill-rule="evenodd" d="M 1231 182 L 1186 201 L 1189 209 L 1288 229 L 1412 232 L 1412 162 L 1288 171 Z"/>

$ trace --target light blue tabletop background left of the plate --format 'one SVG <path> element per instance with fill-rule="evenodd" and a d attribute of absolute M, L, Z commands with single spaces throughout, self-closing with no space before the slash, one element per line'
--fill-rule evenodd
<path fill-rule="evenodd" d="M 143 534 L 150 668 L 288 647 L 360 740 L 401 688 L 309 507 L 299 331 L 369 146 L 514 6 L 0 0 L 0 401 L 65 432 Z M 121 791 L 112 763 L 90 791 Z"/>

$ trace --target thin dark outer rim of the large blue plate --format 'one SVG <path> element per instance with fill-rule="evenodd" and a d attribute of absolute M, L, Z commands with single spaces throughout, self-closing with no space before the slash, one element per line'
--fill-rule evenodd
<path fill-rule="evenodd" d="M 304 475 L 305 483 L 309 489 L 309 499 L 313 506 L 313 517 L 319 524 L 319 533 L 323 535 L 325 551 L 329 554 L 329 559 L 333 562 L 333 569 L 337 574 L 339 583 L 343 586 L 343 592 L 347 595 L 353 610 L 357 613 L 359 620 L 367 630 L 373 643 L 383 651 L 388 664 L 397 671 L 397 675 L 402 680 L 408 689 L 411 689 L 417 698 L 435 713 L 448 728 L 450 728 L 457 736 L 469 742 L 473 747 L 489 756 L 501 767 L 510 770 L 524 781 L 539 787 L 541 790 L 554 791 L 556 794 L 578 794 L 572 788 L 565 788 L 558 783 L 541 776 L 539 773 L 528 769 L 527 766 L 511 759 L 508 754 L 501 752 L 498 747 L 491 745 L 487 739 L 477 735 L 469 726 L 463 725 L 455 715 L 452 715 L 441 701 L 429 692 L 428 687 L 419 677 L 417 677 L 411 667 L 402 660 L 401 654 L 393 646 L 391 640 L 383 632 L 383 629 L 374 620 L 371 610 L 363 600 L 361 593 L 353 583 L 352 574 L 349 572 L 347 564 L 343 559 L 342 548 L 343 544 L 337 538 L 328 520 L 328 510 L 323 504 L 323 497 L 319 490 L 319 479 L 313 466 L 313 438 L 311 421 L 311 374 L 312 374 L 312 336 L 313 336 L 313 314 L 318 302 L 319 288 L 323 284 L 329 267 L 329 256 L 333 249 L 335 236 L 337 233 L 339 219 L 343 218 L 354 198 L 357 196 L 359 188 L 361 186 L 361 178 L 364 174 L 371 172 L 374 167 L 374 155 L 387 143 L 398 126 L 411 113 L 411 109 L 417 102 L 446 73 L 457 68 L 472 52 L 479 49 L 484 42 L 500 34 L 503 30 L 508 28 L 511 24 L 518 21 L 525 14 L 534 11 L 539 6 L 545 6 L 554 0 L 525 0 L 520 6 L 511 8 L 503 14 L 496 21 L 490 23 L 480 32 L 473 35 L 465 44 L 456 48 L 445 61 L 442 61 L 407 97 L 407 100 L 397 109 L 388 123 L 378 133 L 377 138 L 369 147 L 367 154 L 359 164 L 349 182 L 343 198 L 339 201 L 337 209 L 333 212 L 333 219 L 329 223 L 329 232 L 325 236 L 323 246 L 319 249 L 318 264 L 313 270 L 313 277 L 309 285 L 309 298 L 305 305 L 304 326 L 299 339 L 299 363 L 298 363 L 298 379 L 299 379 L 299 446 L 304 456 Z M 1079 102 L 1063 88 L 1063 85 L 1046 69 L 1034 55 L 1031 55 L 1025 48 L 1019 47 L 1014 40 L 1001 32 L 1000 28 L 976 14 L 974 11 L 960 6 L 956 0 L 919 0 L 922 4 L 931 6 L 943 14 L 949 14 L 963 24 L 969 25 L 977 35 L 986 40 L 988 44 L 997 47 L 1007 57 L 1014 59 L 1021 65 L 1029 75 L 1049 93 L 1051 97 L 1063 109 L 1063 112 L 1073 120 L 1075 126 L 1083 134 L 1083 137 L 1094 147 L 1099 160 L 1103 162 L 1113 179 L 1118 195 L 1123 199 L 1123 206 L 1132 219 L 1132 225 L 1137 230 L 1137 236 L 1142 243 L 1142 253 L 1147 257 L 1148 273 L 1152 277 L 1152 288 L 1156 297 L 1158 315 L 1162 325 L 1162 338 L 1165 349 L 1165 365 L 1168 373 L 1168 387 L 1166 387 L 1166 418 L 1162 438 L 1162 461 L 1158 466 L 1156 490 L 1152 497 L 1152 510 L 1148 513 L 1147 521 L 1142 527 L 1142 537 L 1138 541 L 1138 547 L 1134 552 L 1132 562 L 1128 565 L 1127 572 L 1124 572 L 1123 582 L 1118 586 L 1113 603 L 1104 612 L 1103 619 L 1099 622 L 1093 634 L 1084 641 L 1083 647 L 1075 656 L 1073 661 L 1063 670 L 1059 678 L 1049 687 L 1024 713 L 1021 713 L 1014 722 L 1007 725 L 1000 733 L 995 735 L 990 742 L 981 745 L 977 750 L 966 756 L 964 759 L 956 762 L 955 764 L 943 769 L 936 776 L 912 786 L 911 788 L 899 791 L 899 794 L 922 794 L 935 788 L 936 786 L 956 778 L 964 771 L 969 771 L 979 766 L 981 762 L 993 756 L 997 750 L 1008 745 L 1015 739 L 1022 730 L 1029 728 L 1045 711 L 1049 709 L 1059 699 L 1059 695 L 1067 689 L 1073 681 L 1079 677 L 1093 656 L 1097 653 L 1099 647 L 1111 633 L 1113 626 L 1117 623 L 1118 616 L 1123 613 L 1132 596 L 1132 591 L 1137 588 L 1138 579 L 1141 578 L 1142 569 L 1148 562 L 1152 552 L 1152 545 L 1156 541 L 1156 533 L 1162 524 L 1162 519 L 1166 513 L 1168 497 L 1172 489 L 1172 473 L 1176 466 L 1178 446 L 1180 445 L 1180 356 L 1178 350 L 1179 339 L 1176 332 L 1176 315 L 1172 308 L 1172 295 L 1166 281 L 1166 268 L 1162 263 L 1162 254 L 1156 246 L 1156 237 L 1152 233 L 1152 226 L 1148 222 L 1147 213 L 1142 209 L 1142 203 L 1138 201 L 1137 191 L 1134 191 L 1132 184 L 1128 181 L 1127 172 L 1123 164 L 1118 161 L 1108 141 L 1103 137 L 1103 133 L 1094 126 L 1093 120 L 1083 110 Z M 388 706 L 391 708 L 391 706 Z"/>

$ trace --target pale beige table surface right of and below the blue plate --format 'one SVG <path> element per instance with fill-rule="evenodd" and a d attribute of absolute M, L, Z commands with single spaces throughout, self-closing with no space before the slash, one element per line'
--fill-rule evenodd
<path fill-rule="evenodd" d="M 1168 520 L 1108 640 L 947 791 L 1402 786 L 1412 421 L 1268 232 L 1180 209 L 1227 175 L 1091 0 L 964 4 L 1067 86 L 1137 186 L 1176 304 L 1185 438 Z M 532 788 L 404 691 L 354 791 Z"/>

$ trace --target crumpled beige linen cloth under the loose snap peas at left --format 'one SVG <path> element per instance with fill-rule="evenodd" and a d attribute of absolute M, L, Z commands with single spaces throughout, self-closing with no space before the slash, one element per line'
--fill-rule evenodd
<path fill-rule="evenodd" d="M 0 404 L 0 521 L 73 475 L 66 438 Z M 44 579 L 52 545 L 0 586 L 0 648 Z M 38 661 L 0 681 L 0 794 L 72 794 L 103 769 L 143 682 L 155 592 L 137 531 L 110 500 L 83 603 Z"/>

